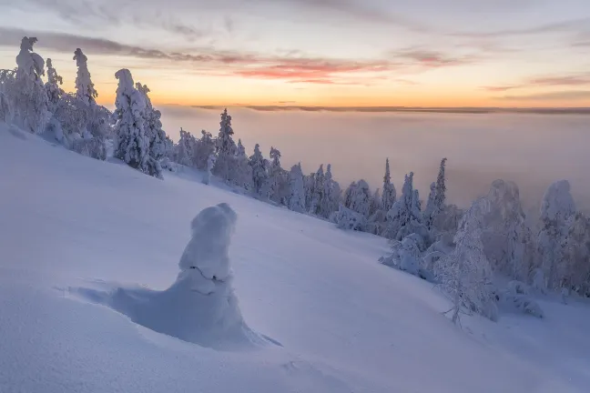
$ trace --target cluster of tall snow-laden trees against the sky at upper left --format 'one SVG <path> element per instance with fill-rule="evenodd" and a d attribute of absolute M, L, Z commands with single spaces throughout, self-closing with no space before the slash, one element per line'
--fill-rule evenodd
<path fill-rule="evenodd" d="M 128 71 L 117 73 L 116 126 L 112 126 L 113 114 L 97 105 L 97 89 L 82 49 L 76 48 L 73 57 L 76 91 L 66 93 L 54 62 L 45 62 L 34 52 L 36 42 L 35 37 L 24 37 L 15 70 L 0 70 L 0 118 L 100 160 L 107 159 L 108 140 L 116 139 L 118 157 L 143 172 L 161 176 L 159 160 L 169 156 L 172 141 L 162 130 L 161 115 L 149 100 L 148 86 L 137 84 L 136 88 Z M 42 76 L 46 76 L 45 83 Z"/>

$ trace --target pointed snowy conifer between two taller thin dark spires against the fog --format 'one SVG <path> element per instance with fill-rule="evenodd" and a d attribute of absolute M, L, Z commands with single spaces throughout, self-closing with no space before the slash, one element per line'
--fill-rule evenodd
<path fill-rule="evenodd" d="M 430 235 L 428 229 L 422 224 L 422 213 L 417 198 L 413 189 L 413 172 L 411 172 L 410 175 L 405 176 L 402 196 L 387 212 L 388 237 L 402 241 L 404 237 L 415 233 L 420 235 L 424 242 L 429 242 Z"/>

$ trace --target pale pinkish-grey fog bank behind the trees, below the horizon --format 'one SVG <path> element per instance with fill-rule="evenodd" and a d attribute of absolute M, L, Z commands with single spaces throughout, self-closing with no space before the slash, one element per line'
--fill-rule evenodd
<path fill-rule="evenodd" d="M 195 136 L 219 132 L 219 109 L 161 106 L 162 123 L 178 141 L 183 127 Z M 331 164 L 342 188 L 364 178 L 382 186 L 385 158 L 398 193 L 414 172 L 428 197 L 442 157 L 447 157 L 448 199 L 462 207 L 485 194 L 497 178 L 514 181 L 528 209 L 538 207 L 555 180 L 572 184 L 576 203 L 590 207 L 590 146 L 583 115 L 437 114 L 257 111 L 231 108 L 235 139 L 248 154 L 256 143 L 268 157 L 279 148 L 285 169 L 301 162 L 304 173 Z"/>

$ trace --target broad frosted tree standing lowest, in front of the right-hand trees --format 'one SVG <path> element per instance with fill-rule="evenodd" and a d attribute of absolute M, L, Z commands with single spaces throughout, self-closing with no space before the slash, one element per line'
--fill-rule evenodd
<path fill-rule="evenodd" d="M 461 220 L 454 238 L 453 252 L 439 259 L 435 273 L 439 286 L 453 301 L 453 323 L 466 309 L 497 320 L 498 309 L 493 296 L 492 267 L 485 257 L 482 243 L 484 217 L 490 203 L 485 198 L 475 200 Z"/>

